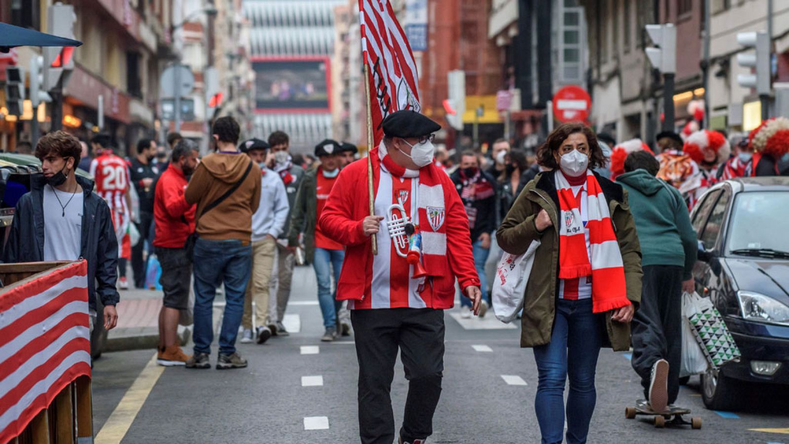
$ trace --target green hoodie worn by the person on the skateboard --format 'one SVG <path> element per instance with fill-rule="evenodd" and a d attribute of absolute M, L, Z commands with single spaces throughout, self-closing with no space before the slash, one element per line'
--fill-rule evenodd
<path fill-rule="evenodd" d="M 679 190 L 643 169 L 616 178 L 630 198 L 641 243 L 641 265 L 679 265 L 688 280 L 696 262 L 696 232 Z"/>

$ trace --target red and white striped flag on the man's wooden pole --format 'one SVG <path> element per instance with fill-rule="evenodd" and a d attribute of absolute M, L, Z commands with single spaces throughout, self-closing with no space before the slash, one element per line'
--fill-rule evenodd
<path fill-rule="evenodd" d="M 359 0 L 361 51 L 369 67 L 375 145 L 383 139 L 381 122 L 394 111 L 421 111 L 417 62 L 389 0 Z"/>

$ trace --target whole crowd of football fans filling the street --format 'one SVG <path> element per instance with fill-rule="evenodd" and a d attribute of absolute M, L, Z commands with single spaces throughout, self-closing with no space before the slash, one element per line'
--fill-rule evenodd
<path fill-rule="evenodd" d="M 382 126 L 383 141 L 360 161 L 356 146 L 330 139 L 314 156 L 291 155 L 281 131 L 240 141 L 232 117 L 214 122 L 213 152 L 202 158 L 179 134 L 167 137 L 169 155 L 143 139 L 128 160 L 105 134 L 92 139 L 90 154 L 76 137 L 47 134 L 35 148 L 43 174 L 17 203 L 3 259 L 84 258 L 91 326 L 99 299 L 111 329 L 118 289 L 129 288 L 126 261 L 134 287 L 146 288 L 155 257 L 163 366 L 211 367 L 213 303 L 222 291 L 219 369 L 248 365 L 236 348 L 240 332 L 242 343 L 288 336 L 294 266 L 310 264 L 320 341 L 355 336 L 361 442 L 395 438 L 389 393 L 399 350 L 409 395 L 398 439 L 416 443 L 432 434 L 439 402 L 442 310 L 457 296 L 463 318 L 484 316 L 502 254 L 536 243 L 521 345 L 537 362 L 537 420 L 543 442 L 562 442 L 567 412 L 567 442 L 585 442 L 602 347 L 632 346 L 656 411 L 676 400 L 680 301 L 694 291 L 697 254 L 689 209 L 721 180 L 789 175 L 782 118 L 731 143 L 712 130 L 664 132 L 654 149 L 568 123 L 537 152 L 501 139 L 489 156 L 466 150 L 454 158 L 433 146 L 440 126 L 424 115 L 398 111 Z M 77 166 L 94 181 L 76 175 Z M 178 344 L 190 310 L 191 356 Z"/>

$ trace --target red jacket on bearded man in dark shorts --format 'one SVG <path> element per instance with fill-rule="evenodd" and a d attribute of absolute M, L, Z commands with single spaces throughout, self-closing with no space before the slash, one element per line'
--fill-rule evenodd
<path fill-rule="evenodd" d="M 156 182 L 153 218 L 156 224 L 154 246 L 182 248 L 195 231 L 195 205 L 184 198 L 186 182 L 183 171 L 170 164 Z"/>

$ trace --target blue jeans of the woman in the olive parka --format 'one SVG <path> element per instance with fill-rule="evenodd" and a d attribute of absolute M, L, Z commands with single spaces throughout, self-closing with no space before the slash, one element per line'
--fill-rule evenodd
<path fill-rule="evenodd" d="M 592 313 L 592 299 L 556 299 L 551 342 L 534 348 L 539 372 L 534 410 L 543 444 L 562 442 L 567 376 L 567 444 L 586 442 L 597 398 L 594 378 L 602 345 L 602 316 Z"/>

